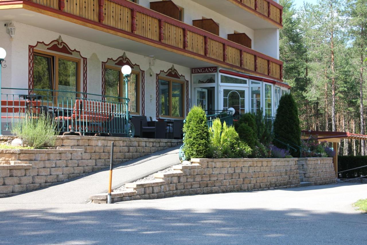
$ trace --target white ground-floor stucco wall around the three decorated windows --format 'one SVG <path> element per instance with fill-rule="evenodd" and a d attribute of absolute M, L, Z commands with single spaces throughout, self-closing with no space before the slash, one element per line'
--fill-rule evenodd
<path fill-rule="evenodd" d="M 17 30 L 12 41 L 5 28 L 0 29 L 0 46 L 6 49 L 7 52 L 7 68 L 2 70 L 1 76 L 2 87 L 28 89 L 28 46 L 36 45 L 37 42 L 50 43 L 52 40 L 57 39 L 59 35 L 61 35 L 63 42 L 70 49 L 76 49 L 81 56 L 88 58 L 88 93 L 101 94 L 101 62 L 106 61 L 108 58 L 116 59 L 126 52 L 19 22 L 13 22 L 13 24 L 17 27 Z M 0 25 L 4 26 L 4 22 L 0 22 Z M 126 52 L 126 56 L 133 64 L 140 65 L 140 68 L 145 71 L 145 115 L 155 118 L 156 73 L 159 73 L 161 70 L 167 71 L 172 67 L 172 63 L 155 60 L 152 70 L 149 70 L 149 61 L 152 58 L 130 52 Z M 174 64 L 174 67 L 179 74 L 184 75 L 190 81 L 190 68 L 177 64 Z M 83 71 L 83 68 L 81 68 L 81 71 Z M 150 76 L 150 72 L 152 72 L 152 76 Z M 82 82 L 83 79 L 81 79 Z"/>

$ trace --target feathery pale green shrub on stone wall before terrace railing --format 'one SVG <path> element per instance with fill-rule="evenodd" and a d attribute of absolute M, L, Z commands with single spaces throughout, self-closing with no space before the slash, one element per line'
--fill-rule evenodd
<path fill-rule="evenodd" d="M 55 146 L 56 135 L 59 134 L 58 122 L 52 117 L 41 114 L 25 113 L 14 123 L 12 134 L 22 139 L 23 143 L 33 147 Z"/>

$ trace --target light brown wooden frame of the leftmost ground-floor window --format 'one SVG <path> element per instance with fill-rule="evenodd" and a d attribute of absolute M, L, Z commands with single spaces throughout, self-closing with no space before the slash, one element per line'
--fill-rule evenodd
<path fill-rule="evenodd" d="M 68 60 L 68 61 L 73 61 L 77 63 L 77 74 L 76 74 L 76 94 L 78 97 L 78 94 L 80 93 L 80 76 L 81 76 L 81 59 L 80 58 L 75 58 L 75 57 L 70 57 L 70 56 L 65 56 L 62 54 L 57 54 L 57 53 L 51 53 L 51 52 L 46 52 L 43 50 L 34 50 L 33 56 L 38 55 L 38 56 L 43 56 L 43 57 L 48 57 L 48 58 L 52 58 L 52 87 L 51 90 L 58 90 L 59 88 L 59 58 L 63 59 L 63 60 Z M 58 96 L 58 92 L 55 92 L 55 99 Z"/>

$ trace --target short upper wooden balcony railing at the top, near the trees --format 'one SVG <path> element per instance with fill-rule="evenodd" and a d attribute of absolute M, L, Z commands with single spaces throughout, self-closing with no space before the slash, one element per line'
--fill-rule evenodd
<path fill-rule="evenodd" d="M 272 19 L 277 24 L 282 25 L 283 6 L 273 0 L 232 0 L 241 3 L 241 5 L 251 8 L 258 13 Z"/>

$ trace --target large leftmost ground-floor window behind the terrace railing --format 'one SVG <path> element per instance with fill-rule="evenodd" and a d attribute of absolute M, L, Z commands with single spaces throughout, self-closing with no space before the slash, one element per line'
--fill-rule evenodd
<path fill-rule="evenodd" d="M 62 92 L 56 95 L 58 102 L 66 103 L 71 97 L 76 97 L 76 92 L 79 91 L 79 74 L 79 59 L 46 52 L 34 53 L 33 88 L 36 89 L 34 93 L 37 95 L 55 96 L 53 93 L 37 89 L 61 90 Z M 47 100 L 52 100 L 52 97 L 47 97 Z"/>

